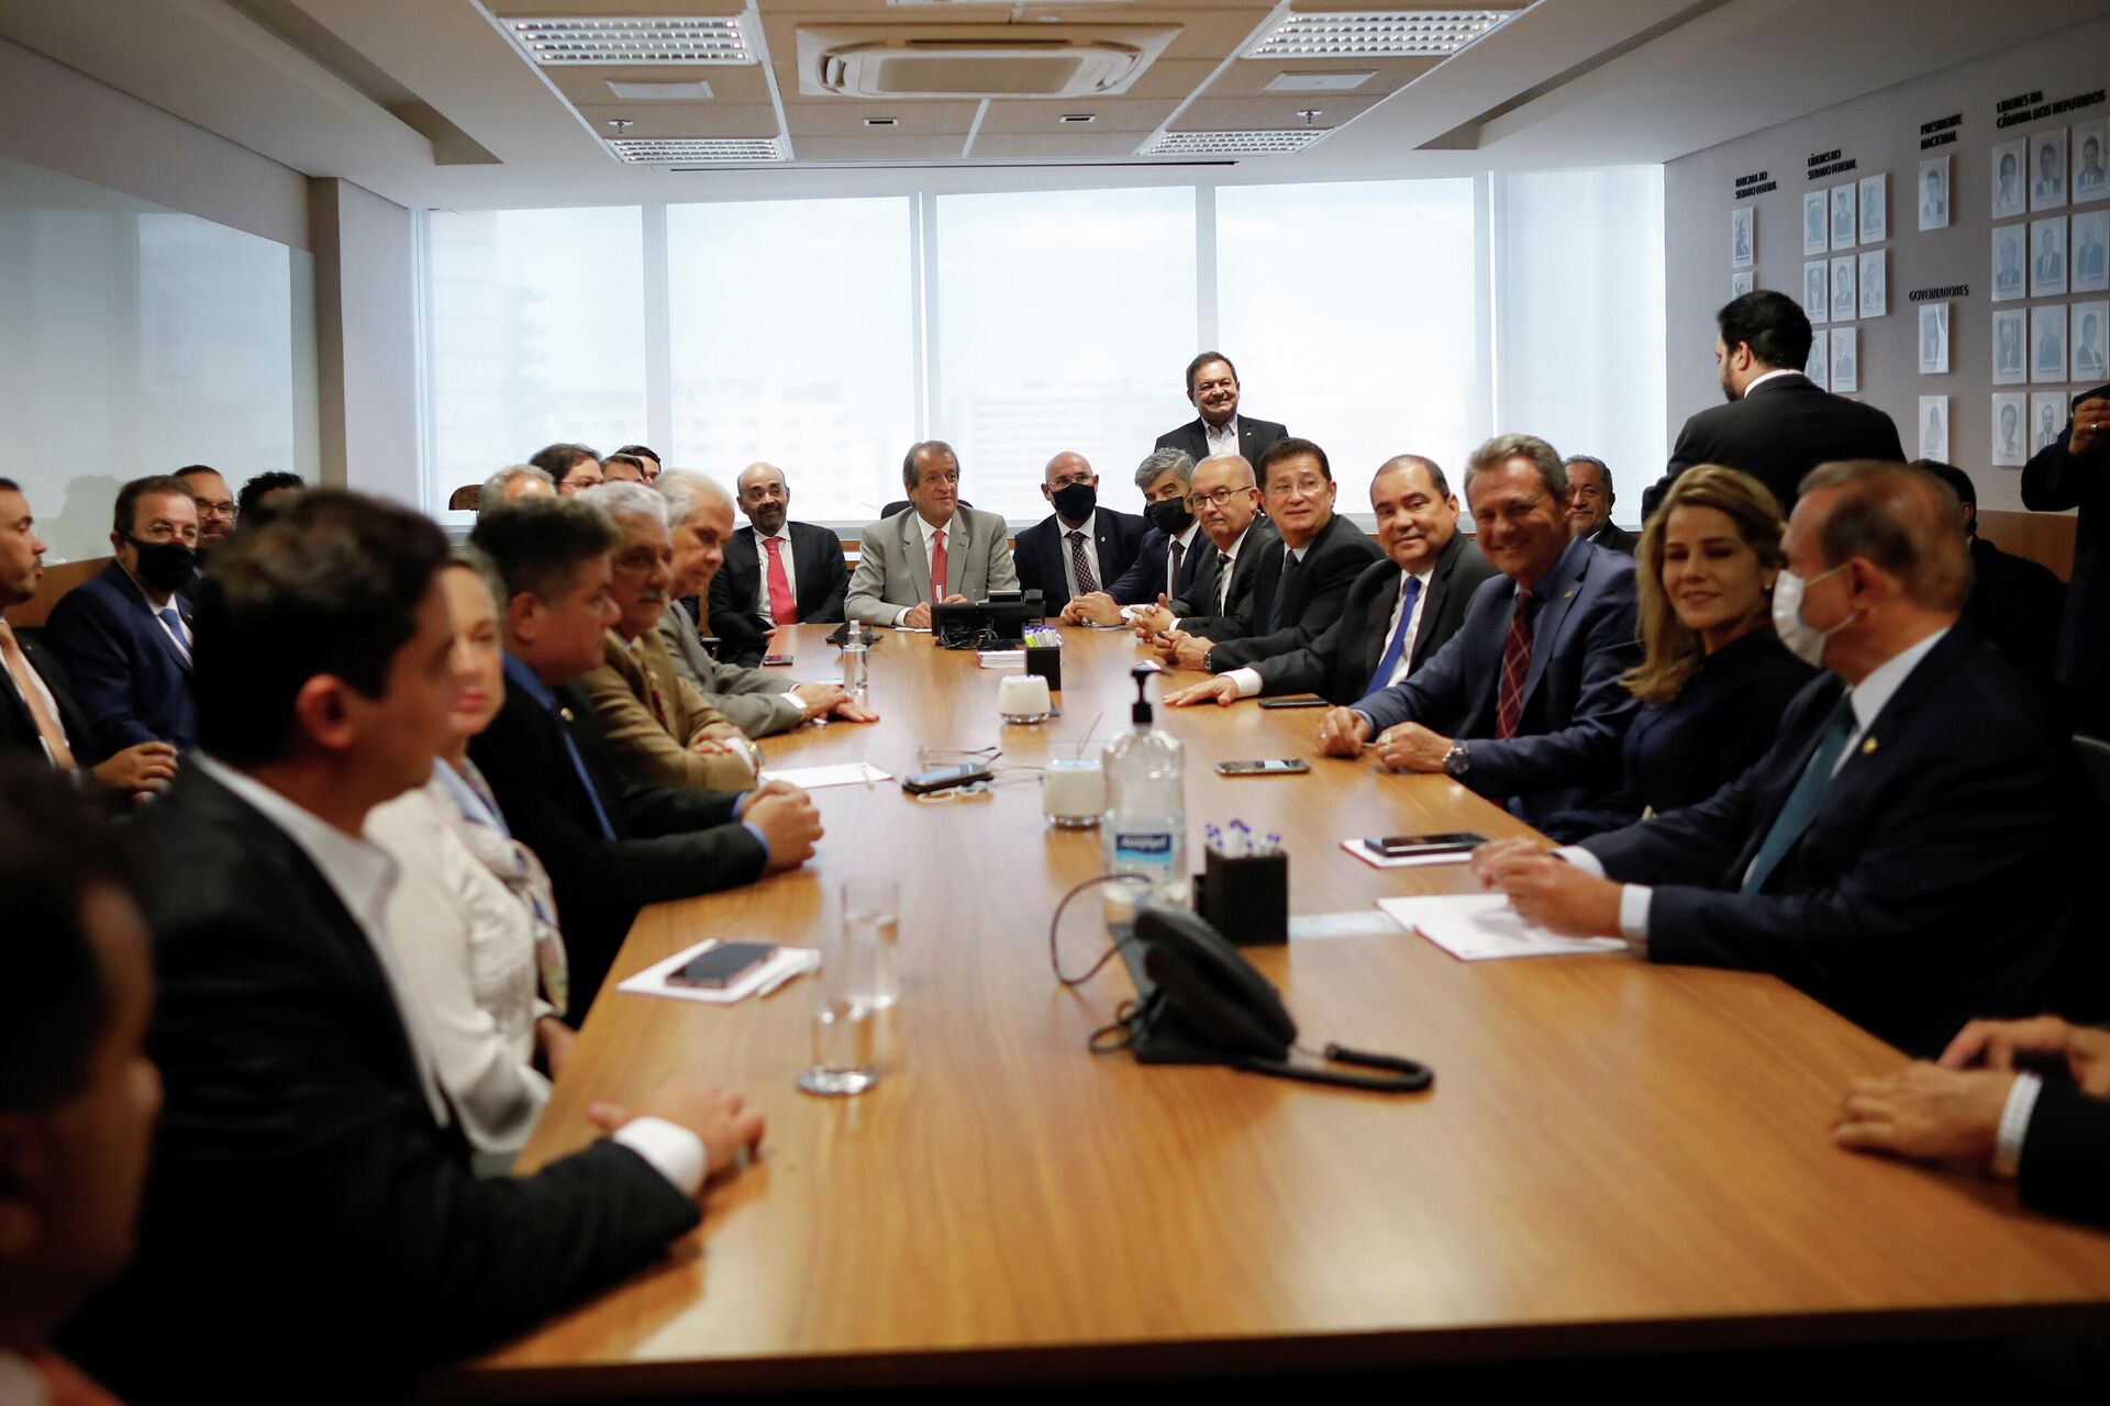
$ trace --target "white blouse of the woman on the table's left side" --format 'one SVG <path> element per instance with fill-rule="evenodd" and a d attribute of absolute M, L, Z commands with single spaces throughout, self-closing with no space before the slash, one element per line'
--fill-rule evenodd
<path fill-rule="evenodd" d="M 549 1102 L 534 1069 L 534 919 L 454 828 L 433 780 L 378 805 L 367 839 L 403 868 L 388 900 L 388 942 L 409 974 L 439 1079 L 479 1153 L 517 1153 Z"/>

